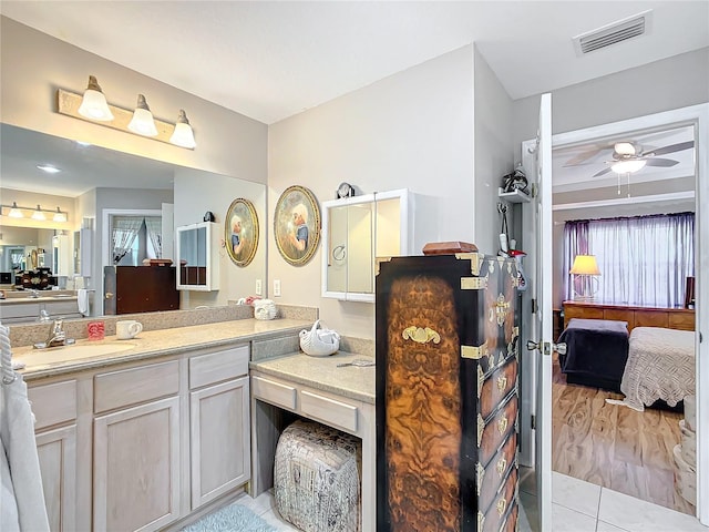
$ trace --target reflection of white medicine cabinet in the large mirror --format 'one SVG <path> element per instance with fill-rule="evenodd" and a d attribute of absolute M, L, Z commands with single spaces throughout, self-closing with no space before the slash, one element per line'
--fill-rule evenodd
<path fill-rule="evenodd" d="M 219 289 L 219 227 L 213 222 L 183 225 L 176 229 L 177 289 Z"/>

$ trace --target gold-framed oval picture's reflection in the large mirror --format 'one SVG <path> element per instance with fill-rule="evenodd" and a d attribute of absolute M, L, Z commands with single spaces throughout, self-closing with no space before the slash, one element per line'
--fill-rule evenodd
<path fill-rule="evenodd" d="M 248 266 L 258 247 L 258 217 L 254 204 L 243 197 L 234 200 L 224 225 L 226 252 L 237 266 Z"/>

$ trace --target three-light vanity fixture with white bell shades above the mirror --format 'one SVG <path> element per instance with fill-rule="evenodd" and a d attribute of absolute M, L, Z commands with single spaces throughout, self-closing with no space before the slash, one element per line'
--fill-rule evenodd
<path fill-rule="evenodd" d="M 94 124 L 151 137 L 187 150 L 193 150 L 196 146 L 194 131 L 184 110 L 179 110 L 177 123 L 173 124 L 155 119 L 143 94 L 138 94 L 137 105 L 134 110 L 111 105 L 106 102 L 93 75 L 89 76 L 89 88 L 83 96 L 58 89 L 56 100 L 56 111 L 66 116 L 86 120 Z M 109 114 L 99 111 L 101 104 L 106 106 Z"/>

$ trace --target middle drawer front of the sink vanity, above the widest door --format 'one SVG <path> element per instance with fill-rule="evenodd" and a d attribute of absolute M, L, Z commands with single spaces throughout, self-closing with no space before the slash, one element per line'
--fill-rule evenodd
<path fill-rule="evenodd" d="M 94 412 L 127 407 L 179 391 L 179 362 L 152 364 L 94 377 Z"/>

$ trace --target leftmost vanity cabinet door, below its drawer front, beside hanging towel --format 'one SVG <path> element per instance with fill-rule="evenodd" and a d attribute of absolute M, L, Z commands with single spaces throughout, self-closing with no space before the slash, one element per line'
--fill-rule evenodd
<path fill-rule="evenodd" d="M 49 528 L 76 530 L 76 426 L 37 434 Z"/>

